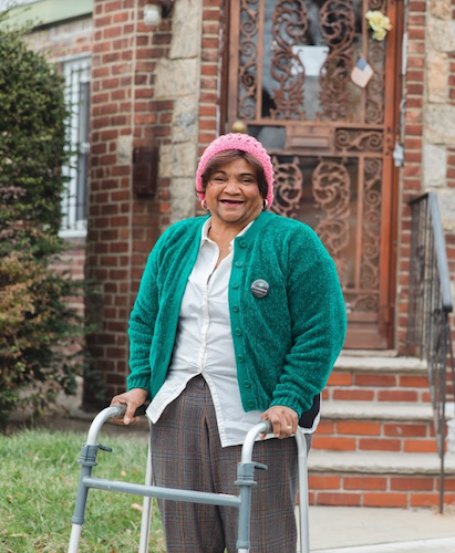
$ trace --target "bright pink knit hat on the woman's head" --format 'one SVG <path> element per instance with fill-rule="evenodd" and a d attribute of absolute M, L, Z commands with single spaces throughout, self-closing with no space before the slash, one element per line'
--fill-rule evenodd
<path fill-rule="evenodd" d="M 207 146 L 204 152 L 199 165 L 196 171 L 196 192 L 200 200 L 203 200 L 206 195 L 203 188 L 203 173 L 209 161 L 216 154 L 225 152 L 227 149 L 239 149 L 241 152 L 248 152 L 256 157 L 256 159 L 261 164 L 263 173 L 266 175 L 267 184 L 269 185 L 267 191 L 267 205 L 270 208 L 273 201 L 273 166 L 271 164 L 270 156 L 268 155 L 266 148 L 260 142 L 249 135 L 241 133 L 230 133 L 228 135 L 218 136 L 209 146 Z"/>

